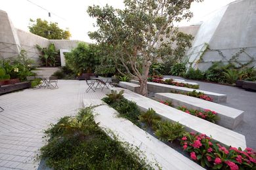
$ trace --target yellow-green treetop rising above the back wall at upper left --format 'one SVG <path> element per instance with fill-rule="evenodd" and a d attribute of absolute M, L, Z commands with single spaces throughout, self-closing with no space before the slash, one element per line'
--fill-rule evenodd
<path fill-rule="evenodd" d="M 58 27 L 58 23 L 48 23 L 47 20 L 30 19 L 30 25 L 28 26 L 31 33 L 45 37 L 46 39 L 70 39 L 71 34 L 68 30 L 63 30 Z"/>

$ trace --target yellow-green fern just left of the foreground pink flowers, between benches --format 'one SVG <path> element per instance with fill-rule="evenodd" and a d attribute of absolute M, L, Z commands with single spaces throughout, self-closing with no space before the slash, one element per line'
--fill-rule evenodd
<path fill-rule="evenodd" d="M 156 130 L 156 136 L 161 141 L 172 142 L 175 139 L 182 137 L 184 134 L 184 126 L 179 122 L 171 123 L 168 120 L 158 123 L 158 129 Z"/>

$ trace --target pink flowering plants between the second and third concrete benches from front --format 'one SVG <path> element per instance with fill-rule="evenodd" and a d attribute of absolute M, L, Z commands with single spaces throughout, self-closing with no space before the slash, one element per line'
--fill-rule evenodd
<path fill-rule="evenodd" d="M 197 116 L 198 118 L 202 118 L 209 122 L 216 123 L 220 120 L 217 113 L 213 110 L 205 109 L 205 110 L 194 110 L 194 109 L 187 109 L 185 106 L 178 107 L 179 110 L 186 112 L 188 114 L 192 114 L 193 116 Z"/>

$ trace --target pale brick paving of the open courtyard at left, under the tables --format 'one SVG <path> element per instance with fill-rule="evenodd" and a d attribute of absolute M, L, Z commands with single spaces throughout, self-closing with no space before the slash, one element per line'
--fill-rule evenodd
<path fill-rule="evenodd" d="M 59 88 L 28 89 L 0 96 L 0 169 L 37 169 L 45 144 L 43 130 L 62 116 L 77 113 L 82 99 L 101 99 L 104 91 L 85 93 L 85 81 L 58 80 Z"/>

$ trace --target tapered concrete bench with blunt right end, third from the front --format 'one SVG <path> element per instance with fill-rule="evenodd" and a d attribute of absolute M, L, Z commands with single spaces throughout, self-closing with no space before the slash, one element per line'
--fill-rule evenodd
<path fill-rule="evenodd" d="M 244 118 L 244 111 L 234 109 L 232 107 L 227 107 L 210 101 L 205 101 L 203 99 L 198 99 L 196 97 L 190 97 L 175 93 L 155 93 L 156 99 L 162 101 L 171 101 L 175 107 L 185 106 L 188 109 L 196 110 L 213 110 L 217 112 L 217 115 L 221 118 L 217 122 L 220 126 L 234 129 Z"/>

